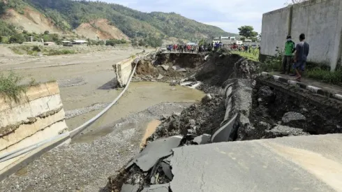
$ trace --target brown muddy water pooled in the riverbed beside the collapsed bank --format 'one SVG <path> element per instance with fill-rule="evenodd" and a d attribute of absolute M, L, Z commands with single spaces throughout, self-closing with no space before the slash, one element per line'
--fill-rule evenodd
<path fill-rule="evenodd" d="M 112 90 L 115 91 L 115 90 Z M 121 90 L 117 90 L 118 92 Z M 190 89 L 188 87 L 175 86 L 172 87 L 163 82 L 133 82 L 122 96 L 117 104 L 113 105 L 108 112 L 100 117 L 93 125 L 85 130 L 79 137 L 75 138 L 73 142 L 92 142 L 103 135 L 107 135 L 114 130 L 114 121 L 123 119 L 134 112 L 140 112 L 149 108 L 152 105 L 159 103 L 195 103 L 200 101 L 205 96 L 202 91 L 198 89 Z M 114 100 L 114 98 L 112 98 Z M 82 119 L 87 120 L 96 115 L 100 110 L 89 112 L 87 115 L 82 115 Z M 163 114 L 161 114 L 163 115 Z M 77 118 L 77 117 L 76 117 Z M 67 123 L 76 125 L 82 123 L 77 122 L 77 119 L 69 119 Z M 76 119 L 76 120 L 75 120 Z M 146 140 L 158 126 L 160 122 L 144 121 L 138 124 L 144 131 L 142 131 L 141 144 Z M 70 126 L 70 124 L 68 125 Z M 135 124 L 127 124 L 129 126 L 136 126 Z"/>

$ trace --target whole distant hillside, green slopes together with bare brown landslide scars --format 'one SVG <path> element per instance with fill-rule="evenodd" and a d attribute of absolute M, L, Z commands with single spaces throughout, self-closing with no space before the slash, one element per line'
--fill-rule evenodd
<path fill-rule="evenodd" d="M 27 31 L 40 32 L 35 23 L 49 27 L 52 31 L 75 32 L 87 38 L 130 38 L 139 40 L 144 38 L 179 38 L 185 40 L 200 40 L 212 36 L 228 36 L 222 29 L 207 24 L 189 20 L 176 13 L 142 13 L 114 3 L 95 1 L 71 0 L 2 0 L 3 15 L 8 24 L 21 27 Z M 29 13 L 28 13 L 29 10 Z M 22 24 L 13 17 L 8 17 L 12 11 L 15 18 L 24 17 Z M 31 17 L 34 15 L 35 17 Z M 38 15 L 38 16 L 37 16 Z M 33 24 L 31 24 L 33 23 Z M 29 25 L 29 26 L 28 26 Z M 34 29 L 31 29 L 34 28 Z M 48 30 L 48 29 L 46 29 Z"/>

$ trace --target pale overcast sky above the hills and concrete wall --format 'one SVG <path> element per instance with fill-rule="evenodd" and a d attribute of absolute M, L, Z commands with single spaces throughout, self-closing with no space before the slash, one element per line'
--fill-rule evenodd
<path fill-rule="evenodd" d="M 289 0 L 101 0 L 143 12 L 179 13 L 184 17 L 237 33 L 241 25 L 261 32 L 262 13 L 285 6 Z"/>

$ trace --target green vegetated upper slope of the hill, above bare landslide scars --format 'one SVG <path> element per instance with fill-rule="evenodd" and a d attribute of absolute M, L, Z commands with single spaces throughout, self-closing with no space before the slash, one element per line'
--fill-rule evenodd
<path fill-rule="evenodd" d="M 12 0 L 14 1 L 14 0 Z M 22 0 L 41 13 L 50 17 L 52 22 L 63 30 L 75 29 L 83 22 L 107 19 L 136 43 L 157 45 L 162 38 L 176 37 L 198 41 L 203 36 L 229 36 L 222 29 L 176 13 L 142 13 L 125 6 L 100 1 L 71 0 Z"/>

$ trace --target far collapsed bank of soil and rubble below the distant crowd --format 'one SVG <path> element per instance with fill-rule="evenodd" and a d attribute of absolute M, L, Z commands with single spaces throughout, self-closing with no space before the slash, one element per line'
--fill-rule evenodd
<path fill-rule="evenodd" d="M 201 54 L 154 54 L 140 59 L 133 82 L 168 82 L 218 94 L 225 80 L 255 77 L 258 64 L 225 49 L 205 57 Z"/>

